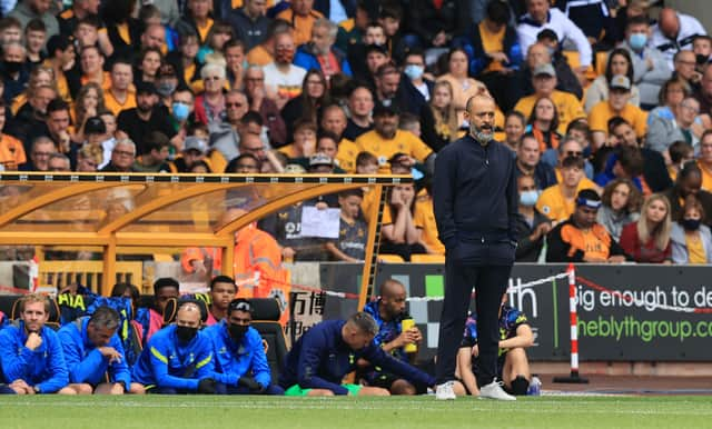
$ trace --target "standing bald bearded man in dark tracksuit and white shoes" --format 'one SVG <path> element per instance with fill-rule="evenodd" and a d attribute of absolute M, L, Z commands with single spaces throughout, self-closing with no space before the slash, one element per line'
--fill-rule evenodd
<path fill-rule="evenodd" d="M 497 311 L 516 249 L 517 191 L 512 150 L 493 140 L 494 100 L 467 102 L 469 134 L 435 159 L 433 206 L 445 245 L 445 300 L 436 365 L 436 399 L 455 399 L 455 358 L 475 287 L 479 337 L 479 396 L 515 400 L 495 380 Z"/>

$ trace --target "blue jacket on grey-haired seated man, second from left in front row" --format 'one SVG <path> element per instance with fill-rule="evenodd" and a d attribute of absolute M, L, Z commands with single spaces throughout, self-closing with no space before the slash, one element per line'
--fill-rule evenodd
<path fill-rule="evenodd" d="M 70 382 L 86 382 L 97 386 L 102 381 L 103 375 L 109 372 L 111 382 L 120 382 L 126 391 L 131 387 L 131 372 L 126 363 L 126 353 L 118 333 L 109 340 L 108 347 L 113 347 L 121 353 L 121 361 L 109 363 L 99 349 L 89 340 L 87 326 L 89 316 L 81 317 L 69 325 L 65 325 L 57 336 L 62 342 L 65 361 L 69 370 Z"/>

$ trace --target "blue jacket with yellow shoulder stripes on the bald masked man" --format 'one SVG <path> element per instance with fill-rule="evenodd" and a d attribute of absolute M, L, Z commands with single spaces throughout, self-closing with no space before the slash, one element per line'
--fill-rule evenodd
<path fill-rule="evenodd" d="M 176 326 L 154 333 L 134 366 L 134 381 L 179 390 L 198 390 L 198 382 L 215 377 L 212 343 L 204 331 L 187 345 L 180 343 Z"/>

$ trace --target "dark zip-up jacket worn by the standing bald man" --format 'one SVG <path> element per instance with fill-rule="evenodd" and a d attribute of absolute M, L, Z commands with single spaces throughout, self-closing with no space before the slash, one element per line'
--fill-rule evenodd
<path fill-rule="evenodd" d="M 516 242 L 515 154 L 497 141 L 472 136 L 447 144 L 435 159 L 433 208 L 447 249 L 459 242 Z"/>

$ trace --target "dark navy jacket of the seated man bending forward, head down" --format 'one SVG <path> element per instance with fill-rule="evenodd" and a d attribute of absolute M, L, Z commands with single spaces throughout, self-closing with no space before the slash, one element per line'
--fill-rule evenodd
<path fill-rule="evenodd" d="M 345 323 L 345 320 L 323 321 L 303 335 L 287 355 L 279 385 L 285 389 L 299 385 L 303 389 L 328 389 L 336 395 L 348 395 L 342 380 L 356 369 L 360 358 L 408 381 L 435 385 L 433 377 L 393 358 L 373 342 L 353 350 L 342 337 Z"/>

